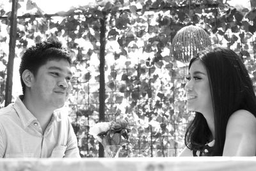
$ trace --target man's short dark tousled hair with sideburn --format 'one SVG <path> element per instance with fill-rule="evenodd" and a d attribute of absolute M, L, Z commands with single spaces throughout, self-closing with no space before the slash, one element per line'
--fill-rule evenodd
<path fill-rule="evenodd" d="M 35 46 L 29 47 L 21 58 L 19 68 L 23 94 L 25 94 L 26 90 L 26 85 L 22 80 L 22 73 L 24 70 L 29 70 L 36 76 L 40 66 L 47 63 L 47 61 L 59 61 L 61 59 L 67 60 L 69 64 L 72 63 L 70 54 L 58 41 L 44 41 L 42 43 L 36 43 Z"/>

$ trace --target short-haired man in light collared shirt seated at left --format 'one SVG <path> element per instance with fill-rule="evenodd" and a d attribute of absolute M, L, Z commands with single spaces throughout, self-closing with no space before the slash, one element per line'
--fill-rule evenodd
<path fill-rule="evenodd" d="M 26 50 L 19 70 L 24 95 L 0 110 L 2 158 L 80 158 L 68 116 L 57 110 L 71 89 L 70 64 L 59 42 Z"/>

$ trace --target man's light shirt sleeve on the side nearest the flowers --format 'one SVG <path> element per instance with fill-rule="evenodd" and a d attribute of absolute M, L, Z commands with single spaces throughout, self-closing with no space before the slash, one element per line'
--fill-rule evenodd
<path fill-rule="evenodd" d="M 65 151 L 65 158 L 81 158 L 79 149 L 77 147 L 77 137 L 74 133 L 73 127 L 68 119 L 68 142 Z"/>

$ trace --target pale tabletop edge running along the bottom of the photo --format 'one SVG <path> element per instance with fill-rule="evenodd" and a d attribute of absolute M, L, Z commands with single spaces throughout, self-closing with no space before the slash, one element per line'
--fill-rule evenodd
<path fill-rule="evenodd" d="M 13 158 L 0 160 L 1 171 L 255 171 L 256 157 L 172 158 Z"/>

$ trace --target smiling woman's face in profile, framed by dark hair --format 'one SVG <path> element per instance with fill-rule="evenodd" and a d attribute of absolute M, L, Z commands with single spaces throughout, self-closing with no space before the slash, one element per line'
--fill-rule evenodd
<path fill-rule="evenodd" d="M 200 59 L 196 59 L 189 69 L 186 83 L 188 110 L 202 114 L 212 112 L 212 98 L 206 68 Z"/>

